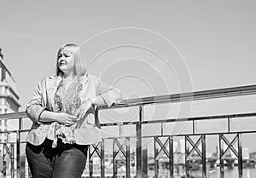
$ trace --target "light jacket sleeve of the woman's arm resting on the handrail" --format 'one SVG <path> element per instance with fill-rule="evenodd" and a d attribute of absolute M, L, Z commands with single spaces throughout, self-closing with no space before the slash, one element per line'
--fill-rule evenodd
<path fill-rule="evenodd" d="M 112 106 L 114 102 L 122 100 L 120 89 L 113 88 L 108 83 L 102 82 L 102 78 L 96 78 L 96 95 L 101 95 L 108 107 Z"/>

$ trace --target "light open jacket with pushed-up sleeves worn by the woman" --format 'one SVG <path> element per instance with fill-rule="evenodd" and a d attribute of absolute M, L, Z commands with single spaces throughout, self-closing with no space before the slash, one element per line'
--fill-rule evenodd
<path fill-rule="evenodd" d="M 38 83 L 38 87 L 32 96 L 32 100 L 30 100 L 26 106 L 27 117 L 33 122 L 32 128 L 26 137 L 26 141 L 33 145 L 41 145 L 48 135 L 51 123 L 43 123 L 38 121 L 38 119 L 44 110 L 49 110 L 49 108 L 47 108 L 47 95 L 54 89 L 56 79 L 57 76 L 50 76 Z M 107 83 L 103 83 L 101 78 L 87 73 L 84 75 L 83 89 L 80 95 L 81 103 L 96 95 L 101 95 L 108 106 L 112 106 L 114 102 L 122 100 L 119 89 L 113 88 Z M 76 143 L 79 145 L 96 144 L 97 142 L 102 141 L 100 122 L 98 118 L 95 117 L 95 109 L 96 107 L 90 109 L 85 117 L 76 123 L 77 126 L 76 129 L 74 129 L 74 137 Z M 85 119 L 87 117 L 90 117 L 90 119 Z M 91 120 L 91 117 L 93 117 L 92 119 L 95 119 L 95 125 L 93 127 L 88 127 L 86 120 Z"/>

